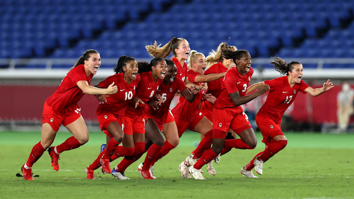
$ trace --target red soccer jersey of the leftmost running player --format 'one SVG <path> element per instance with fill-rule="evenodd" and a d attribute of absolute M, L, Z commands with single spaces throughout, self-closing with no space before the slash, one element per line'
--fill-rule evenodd
<path fill-rule="evenodd" d="M 72 112 L 77 102 L 84 96 L 84 92 L 77 86 L 78 81 L 91 83 L 93 74 L 87 76 L 85 66 L 78 65 L 71 69 L 61 81 L 56 92 L 47 99 L 47 104 L 53 107 L 56 114 L 65 115 Z"/>

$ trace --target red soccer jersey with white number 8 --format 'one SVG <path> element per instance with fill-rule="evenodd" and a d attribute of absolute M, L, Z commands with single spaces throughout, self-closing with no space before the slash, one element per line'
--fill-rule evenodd
<path fill-rule="evenodd" d="M 140 82 L 137 87 L 135 97 L 143 100 L 145 104 L 139 103 L 138 107 L 135 108 L 135 102 L 131 100 L 127 107 L 126 113 L 132 116 L 142 114 L 148 100 L 153 98 L 161 83 L 162 79 L 157 79 L 156 83 L 153 81 L 151 72 L 141 73 Z"/>

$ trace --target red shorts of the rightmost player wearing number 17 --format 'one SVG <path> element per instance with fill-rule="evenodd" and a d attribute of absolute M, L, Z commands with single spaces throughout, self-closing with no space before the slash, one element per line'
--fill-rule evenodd
<path fill-rule="evenodd" d="M 273 138 L 277 135 L 284 135 L 283 131 L 280 129 L 281 123 L 275 123 L 269 118 L 263 118 L 256 116 L 256 124 L 258 125 L 261 133 L 263 135 L 263 140 L 266 146 L 269 146 L 274 142 Z"/>

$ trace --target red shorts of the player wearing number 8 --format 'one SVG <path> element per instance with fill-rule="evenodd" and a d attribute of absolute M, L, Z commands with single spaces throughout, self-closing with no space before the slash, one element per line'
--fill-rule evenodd
<path fill-rule="evenodd" d="M 137 116 L 125 115 L 124 120 L 124 133 L 127 135 L 133 135 L 133 133 L 144 134 L 145 133 L 145 119 L 143 114 Z"/>

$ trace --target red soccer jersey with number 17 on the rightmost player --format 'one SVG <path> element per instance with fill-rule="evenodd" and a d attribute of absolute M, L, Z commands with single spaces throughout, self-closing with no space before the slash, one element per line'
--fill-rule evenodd
<path fill-rule="evenodd" d="M 269 85 L 270 90 L 257 116 L 272 119 L 275 123 L 281 123 L 285 110 L 293 103 L 298 91 L 305 93 L 304 90 L 309 87 L 301 80 L 290 88 L 288 76 L 266 80 L 265 84 Z"/>

